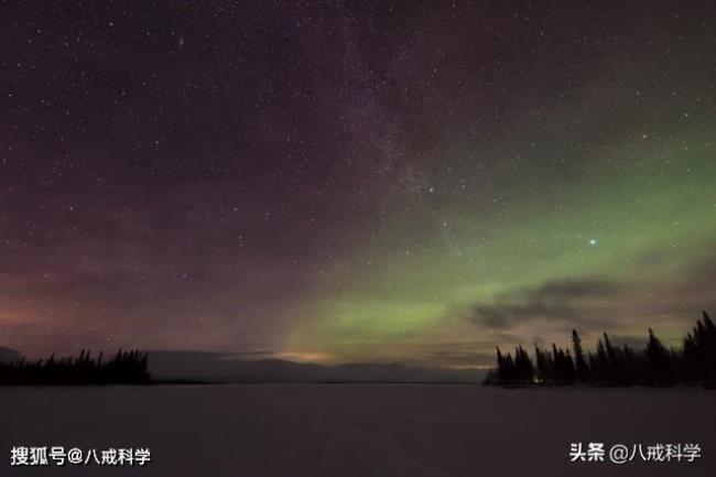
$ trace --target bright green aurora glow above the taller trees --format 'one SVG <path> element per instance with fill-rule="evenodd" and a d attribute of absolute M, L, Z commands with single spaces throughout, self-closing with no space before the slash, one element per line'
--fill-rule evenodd
<path fill-rule="evenodd" d="M 633 132 L 618 147 L 583 152 L 597 165 L 588 159 L 563 180 L 545 183 L 516 169 L 491 184 L 500 192 L 493 198 L 460 189 L 464 182 L 443 183 L 326 274 L 334 293 L 304 312 L 315 321 L 288 347 L 404 360 L 435 343 L 479 356 L 496 344 L 564 340 L 572 327 L 588 337 L 608 330 L 640 338 L 649 326 L 676 344 L 698 307 L 714 302 L 698 293 L 685 302 L 680 292 L 701 278 L 694 269 L 708 265 L 702 261 L 716 247 L 715 133 L 710 124 L 686 124 L 668 140 Z M 549 159 L 534 153 L 530 161 Z M 574 306 L 572 316 L 555 321 L 542 306 L 521 317 L 528 327 L 520 317 L 495 327 L 473 316 L 476 306 L 527 312 L 529 291 L 597 279 L 618 290 L 557 296 Z"/>

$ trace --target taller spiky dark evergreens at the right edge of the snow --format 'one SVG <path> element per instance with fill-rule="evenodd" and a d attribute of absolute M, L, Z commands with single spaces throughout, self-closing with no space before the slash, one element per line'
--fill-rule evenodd
<path fill-rule="evenodd" d="M 497 348 L 497 368 L 491 369 L 486 384 L 575 384 L 594 386 L 716 386 L 716 325 L 703 312 L 680 349 L 666 348 L 649 328 L 647 346 L 634 350 L 617 346 L 606 333 L 594 351 L 582 347 L 582 338 L 572 330 L 572 349 L 552 345 L 551 349 L 534 345 L 534 360 L 518 346 L 514 354 Z"/>

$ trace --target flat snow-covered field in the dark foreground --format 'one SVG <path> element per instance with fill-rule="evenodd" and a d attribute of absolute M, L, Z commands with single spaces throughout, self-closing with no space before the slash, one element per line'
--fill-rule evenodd
<path fill-rule="evenodd" d="M 0 389 L 0 476 L 714 476 L 716 392 L 468 384 Z M 698 443 L 571 464 L 572 442 Z M 145 467 L 10 467 L 13 445 L 149 447 Z"/>

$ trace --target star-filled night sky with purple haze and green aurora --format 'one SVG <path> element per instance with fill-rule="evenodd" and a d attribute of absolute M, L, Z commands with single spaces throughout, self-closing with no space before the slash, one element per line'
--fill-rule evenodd
<path fill-rule="evenodd" d="M 677 344 L 716 312 L 708 3 L 2 1 L 0 345 Z"/>

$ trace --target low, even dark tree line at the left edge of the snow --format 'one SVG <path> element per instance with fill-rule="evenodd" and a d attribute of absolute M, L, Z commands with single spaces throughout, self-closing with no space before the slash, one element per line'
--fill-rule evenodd
<path fill-rule="evenodd" d="M 0 361 L 0 386 L 144 384 L 150 381 L 147 353 L 117 351 L 105 359 L 82 350 L 78 357 Z"/>

